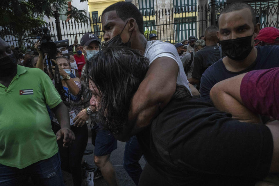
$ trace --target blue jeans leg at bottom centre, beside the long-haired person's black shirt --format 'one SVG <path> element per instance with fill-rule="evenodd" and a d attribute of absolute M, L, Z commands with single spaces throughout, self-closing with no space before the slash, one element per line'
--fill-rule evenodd
<path fill-rule="evenodd" d="M 137 137 L 132 136 L 125 145 L 123 167 L 136 185 L 139 183 L 142 173 L 142 167 L 139 164 L 142 153 Z"/>

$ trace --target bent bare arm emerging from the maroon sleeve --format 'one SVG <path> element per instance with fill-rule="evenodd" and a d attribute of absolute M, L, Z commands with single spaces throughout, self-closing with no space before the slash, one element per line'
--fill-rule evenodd
<path fill-rule="evenodd" d="M 232 118 L 249 123 L 261 123 L 259 115 L 243 105 L 240 96 L 240 85 L 245 74 L 220 81 L 210 90 L 210 99 L 221 111 L 232 114 Z"/>

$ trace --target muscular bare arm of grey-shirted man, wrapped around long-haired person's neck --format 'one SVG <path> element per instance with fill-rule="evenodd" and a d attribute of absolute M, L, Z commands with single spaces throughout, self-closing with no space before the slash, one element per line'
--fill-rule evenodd
<path fill-rule="evenodd" d="M 176 89 L 178 64 L 168 57 L 154 60 L 142 83 L 133 96 L 128 113 L 128 124 L 123 132 L 116 135 L 117 140 L 127 141 L 130 136 L 139 132 L 159 114 Z"/>

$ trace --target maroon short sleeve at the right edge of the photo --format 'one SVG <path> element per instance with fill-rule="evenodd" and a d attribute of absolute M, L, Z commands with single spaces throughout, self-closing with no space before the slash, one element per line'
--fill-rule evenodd
<path fill-rule="evenodd" d="M 240 96 L 252 112 L 279 119 L 279 68 L 250 71 L 243 77 Z"/>

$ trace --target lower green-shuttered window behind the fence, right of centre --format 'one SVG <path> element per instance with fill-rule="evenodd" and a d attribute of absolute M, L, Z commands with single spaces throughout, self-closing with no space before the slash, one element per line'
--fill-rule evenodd
<path fill-rule="evenodd" d="M 189 36 L 194 35 L 196 37 L 196 17 L 191 18 L 176 18 L 174 19 L 175 40 L 180 42 Z"/>

